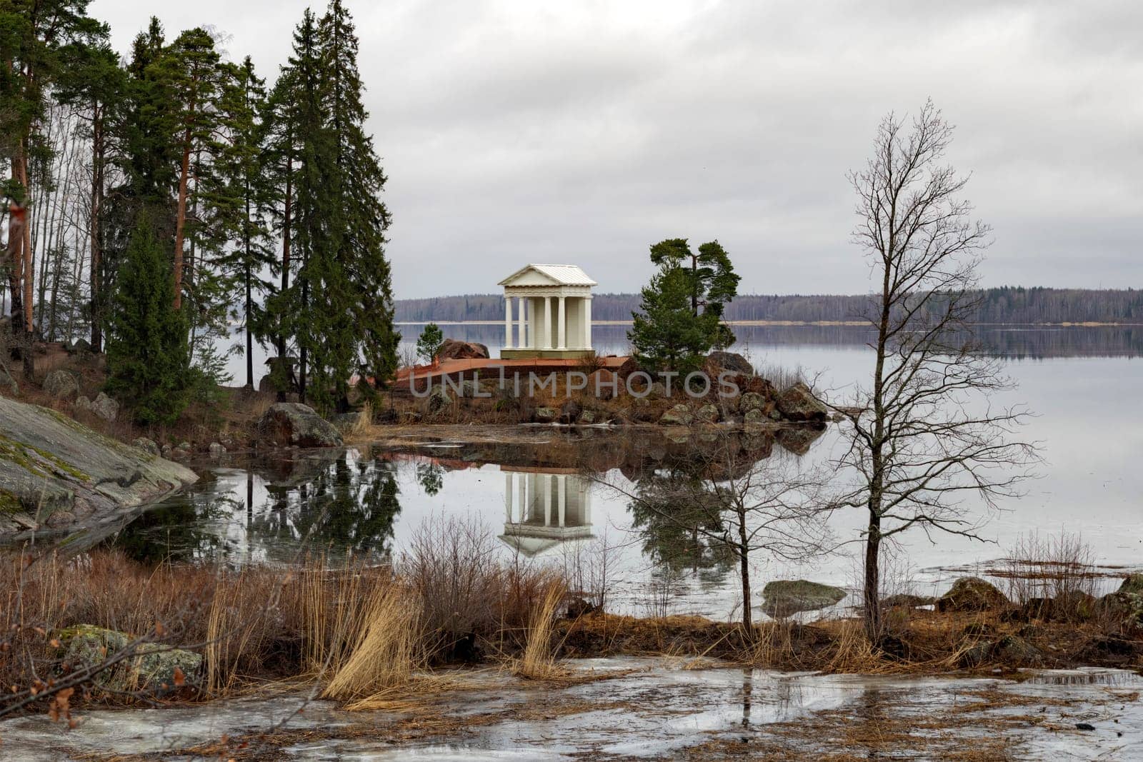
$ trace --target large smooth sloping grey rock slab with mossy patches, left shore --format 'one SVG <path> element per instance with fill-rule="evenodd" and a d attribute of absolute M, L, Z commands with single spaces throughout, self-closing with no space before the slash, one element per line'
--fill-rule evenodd
<path fill-rule="evenodd" d="M 0 398 L 0 536 L 118 519 L 194 480 L 55 410 Z"/>

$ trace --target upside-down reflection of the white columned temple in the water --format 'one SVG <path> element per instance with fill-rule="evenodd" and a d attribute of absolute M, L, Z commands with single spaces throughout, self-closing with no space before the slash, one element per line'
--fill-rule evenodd
<path fill-rule="evenodd" d="M 499 539 L 523 556 L 570 540 L 591 539 L 591 482 L 572 468 L 501 466 L 504 472 L 504 534 Z"/>

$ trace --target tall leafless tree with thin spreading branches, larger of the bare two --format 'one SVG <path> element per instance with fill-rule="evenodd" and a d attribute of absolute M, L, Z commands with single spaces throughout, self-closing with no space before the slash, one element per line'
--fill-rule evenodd
<path fill-rule="evenodd" d="M 860 217 L 853 240 L 879 292 L 866 315 L 877 336 L 872 386 L 837 408 L 849 422 L 837 465 L 854 475 L 838 504 L 869 513 L 863 603 L 874 641 L 881 543 L 910 529 L 977 537 L 965 500 L 994 507 L 1018 494 L 1036 462 L 1034 447 L 1014 439 L 1026 411 L 990 402 L 1012 382 L 968 324 L 990 228 L 960 198 L 968 177 L 943 163 L 952 133 L 932 101 L 908 127 L 889 114 L 872 159 L 849 177 Z"/>

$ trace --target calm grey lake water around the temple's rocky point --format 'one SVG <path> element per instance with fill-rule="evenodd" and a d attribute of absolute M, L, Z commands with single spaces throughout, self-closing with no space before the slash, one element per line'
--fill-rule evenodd
<path fill-rule="evenodd" d="M 498 326 L 445 326 L 446 336 L 498 348 Z M 415 336 L 416 328 L 405 327 Z M 602 353 L 625 351 L 626 327 L 596 328 Z M 756 364 L 800 367 L 821 374 L 820 386 L 842 394 L 868 378 L 872 353 L 865 332 L 833 327 L 736 327 L 738 351 Z M 991 543 L 925 534 L 905 536 L 894 551 L 895 578 L 913 592 L 942 592 L 967 572 L 998 568 L 1023 535 L 1074 532 L 1109 575 L 1143 567 L 1143 329 L 985 329 L 989 351 L 1008 358 L 1018 388 L 1000 402 L 1023 402 L 1037 414 L 1025 427 L 1046 463 L 1021 499 L 986 512 L 981 535 Z M 831 426 L 806 463 L 836 456 Z M 590 447 L 590 446 L 589 446 Z M 733 615 L 741 605 L 734 561 L 720 548 L 688 543 L 633 511 L 615 490 L 570 470 L 544 468 L 515 454 L 482 452 L 441 442 L 419 454 L 376 448 L 279 456 L 277 460 L 208 467 L 191 491 L 145 513 L 114 540 L 141 558 L 223 559 L 232 563 L 288 563 L 299 548 L 399 554 L 424 522 L 458 516 L 480 522 L 505 558 L 554 564 L 589 576 L 606 559 L 615 608 L 632 612 Z M 798 457 L 781 444 L 774 458 Z M 537 459 L 537 462 L 539 462 Z M 626 475 L 624 475 L 626 474 Z M 616 467 L 600 475 L 632 486 Z M 562 508 L 562 511 L 561 511 Z M 562 522 L 561 522 L 562 519 Z M 837 538 L 857 538 L 861 512 L 837 514 Z M 807 578 L 853 588 L 856 545 L 791 564 L 758 558 L 758 587 L 768 579 Z M 1118 584 L 1109 576 L 1105 586 Z M 853 603 L 853 597 L 841 605 Z"/>

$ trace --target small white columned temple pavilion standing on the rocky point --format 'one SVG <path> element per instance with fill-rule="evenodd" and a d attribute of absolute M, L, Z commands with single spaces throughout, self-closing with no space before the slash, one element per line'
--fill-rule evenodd
<path fill-rule="evenodd" d="M 575 265 L 526 265 L 504 287 L 501 358 L 581 358 L 591 348 L 591 287 Z M 515 308 L 513 311 L 513 302 Z"/>

